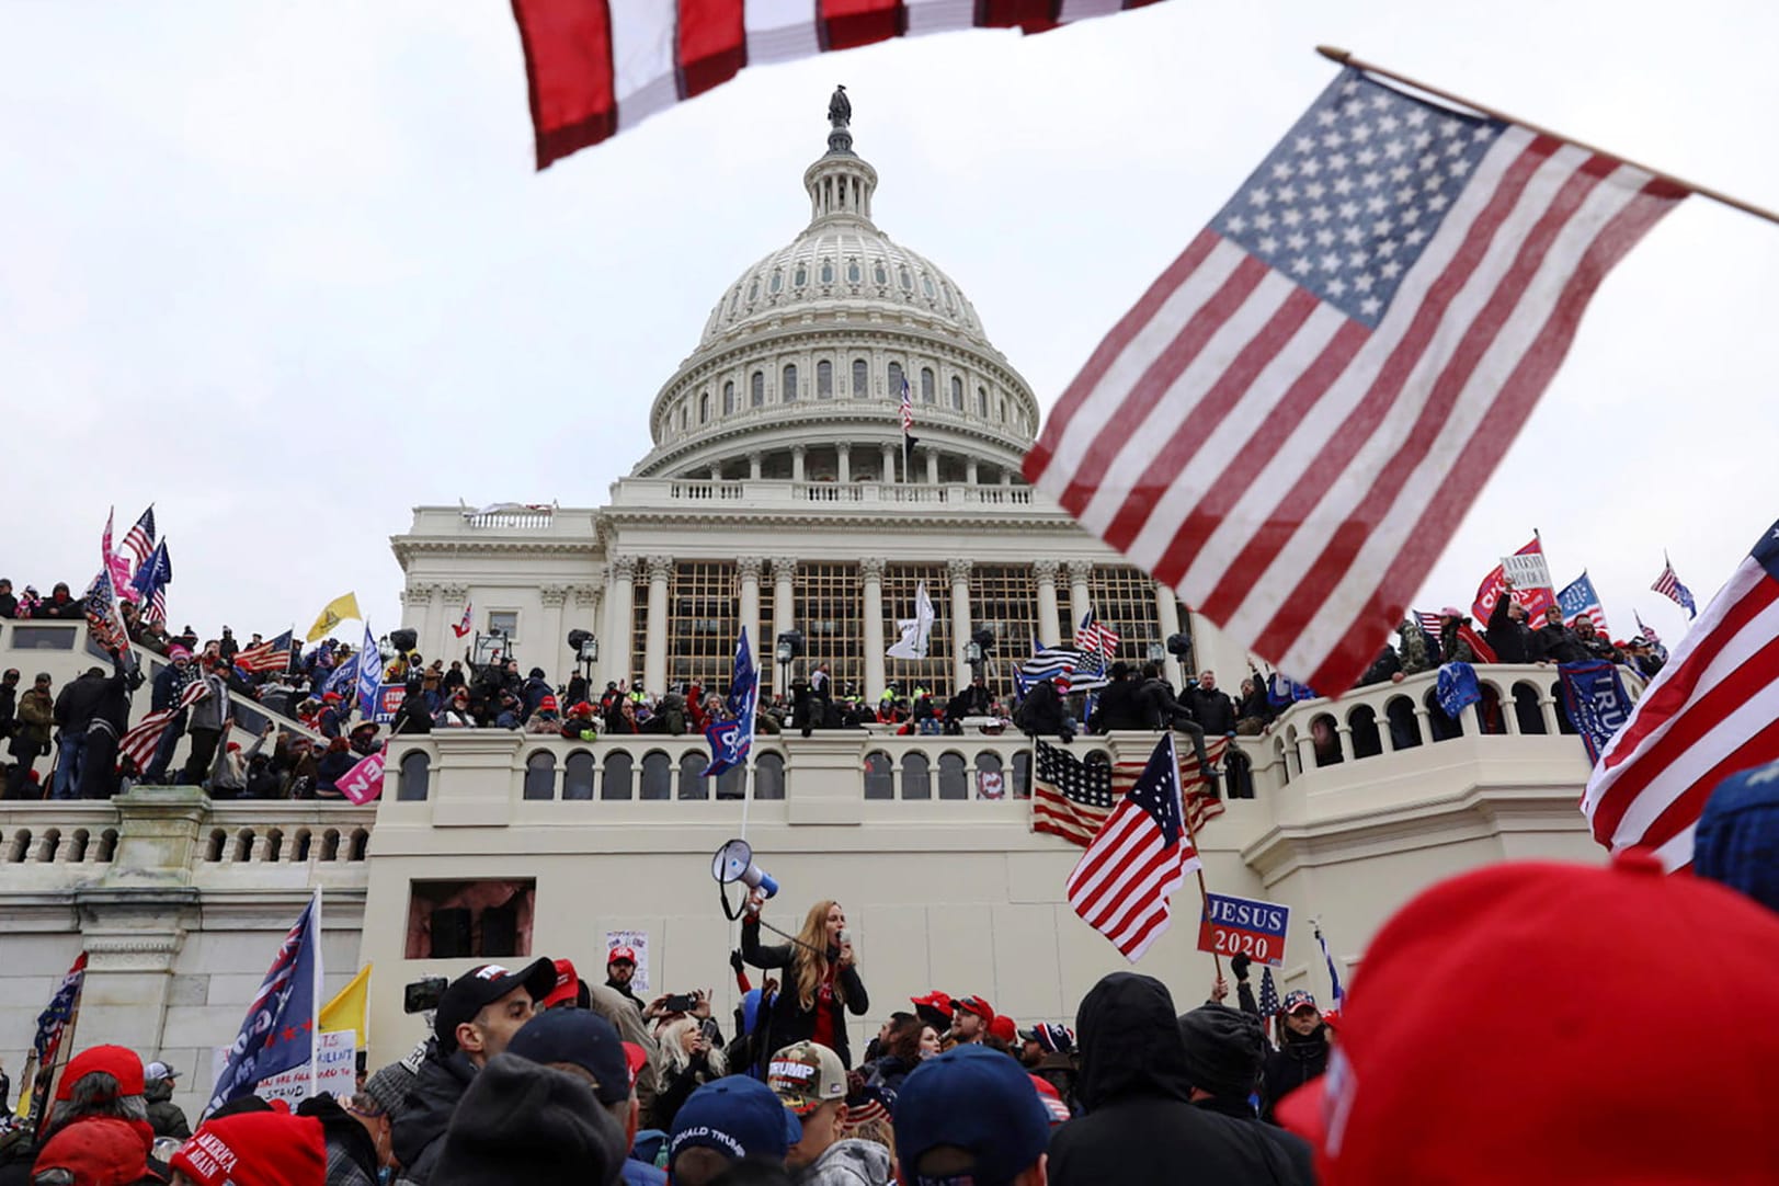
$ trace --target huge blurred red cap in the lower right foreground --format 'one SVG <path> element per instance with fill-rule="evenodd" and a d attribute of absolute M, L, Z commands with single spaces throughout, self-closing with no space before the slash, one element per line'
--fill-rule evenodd
<path fill-rule="evenodd" d="M 1325 1186 L 1779 1181 L 1779 1030 L 1727 1021 L 1774 1014 L 1779 916 L 1735 891 L 1647 853 L 1496 864 L 1384 923 L 1277 1117 Z"/>

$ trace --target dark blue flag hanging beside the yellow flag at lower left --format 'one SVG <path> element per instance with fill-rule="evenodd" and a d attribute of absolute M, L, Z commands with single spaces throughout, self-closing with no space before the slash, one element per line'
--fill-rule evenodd
<path fill-rule="evenodd" d="M 315 1010 L 320 1006 L 315 985 L 322 978 L 320 926 L 322 894 L 317 889 L 253 994 L 205 1115 L 231 1099 L 251 1095 L 262 1079 L 301 1067 L 313 1056 L 318 1038 Z"/>

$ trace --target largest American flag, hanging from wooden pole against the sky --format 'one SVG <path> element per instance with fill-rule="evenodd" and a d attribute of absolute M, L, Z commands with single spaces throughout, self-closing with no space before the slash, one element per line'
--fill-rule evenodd
<path fill-rule="evenodd" d="M 1025 475 L 1340 693 L 1683 196 L 1347 69 L 1099 343 Z"/>

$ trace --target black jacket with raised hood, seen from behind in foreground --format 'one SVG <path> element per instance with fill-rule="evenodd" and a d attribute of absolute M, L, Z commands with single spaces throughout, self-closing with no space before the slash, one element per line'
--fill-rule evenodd
<path fill-rule="evenodd" d="M 1087 1115 L 1050 1138 L 1055 1186 L 1306 1181 L 1258 1124 L 1190 1102 L 1187 1047 L 1160 980 L 1112 973 L 1082 999 L 1075 1026 Z"/>

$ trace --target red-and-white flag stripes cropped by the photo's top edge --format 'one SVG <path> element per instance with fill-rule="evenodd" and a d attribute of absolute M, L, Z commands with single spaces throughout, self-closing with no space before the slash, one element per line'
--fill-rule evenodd
<path fill-rule="evenodd" d="M 1153 0 L 512 0 L 537 167 L 703 94 L 744 66 L 904 34 L 1057 25 Z"/>

